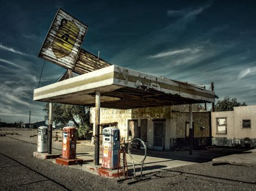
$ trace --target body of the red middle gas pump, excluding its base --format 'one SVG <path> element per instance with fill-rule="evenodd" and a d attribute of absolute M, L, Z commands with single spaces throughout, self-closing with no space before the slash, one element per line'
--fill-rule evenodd
<path fill-rule="evenodd" d="M 73 126 L 66 126 L 63 128 L 62 140 L 62 158 L 75 159 L 76 158 L 76 144 L 77 144 L 77 129 Z"/>

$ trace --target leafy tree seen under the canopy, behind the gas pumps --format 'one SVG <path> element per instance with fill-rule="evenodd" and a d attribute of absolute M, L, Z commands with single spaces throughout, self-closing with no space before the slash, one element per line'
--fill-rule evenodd
<path fill-rule="evenodd" d="M 49 103 L 44 105 L 45 119 L 49 118 Z M 52 121 L 63 126 L 72 121 L 78 128 L 78 138 L 86 137 L 86 133 L 92 130 L 90 124 L 90 108 L 84 105 L 69 105 L 54 103 L 52 106 Z"/>

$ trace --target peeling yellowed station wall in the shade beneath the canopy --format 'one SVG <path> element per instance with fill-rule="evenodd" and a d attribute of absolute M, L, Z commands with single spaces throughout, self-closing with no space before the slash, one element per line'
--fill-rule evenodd
<path fill-rule="evenodd" d="M 198 108 L 196 106 L 193 109 Z M 94 123 L 95 109 L 91 108 L 91 123 Z M 126 140 L 129 138 L 129 128 L 131 126 L 132 137 L 137 136 L 138 116 L 141 115 L 142 138 L 146 139 L 148 148 L 154 148 L 154 121 L 164 120 L 164 150 L 169 151 L 176 146 L 176 139 L 185 138 L 186 122 L 188 122 L 188 105 L 175 105 L 165 107 L 137 108 L 129 110 L 100 109 L 100 124 L 117 122 L 120 129 L 120 136 Z M 193 112 L 194 137 L 208 138 L 210 136 L 210 112 Z M 133 128 L 134 127 L 134 128 Z M 204 127 L 204 128 L 202 128 Z M 145 135 L 145 137 L 143 137 Z M 182 141 L 182 140 L 181 140 Z M 172 144 L 175 143 L 175 145 Z"/>

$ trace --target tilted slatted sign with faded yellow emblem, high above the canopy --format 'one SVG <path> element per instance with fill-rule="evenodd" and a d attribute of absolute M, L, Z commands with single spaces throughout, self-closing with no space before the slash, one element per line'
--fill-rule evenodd
<path fill-rule="evenodd" d="M 87 28 L 85 24 L 59 9 L 38 56 L 66 69 L 72 69 Z"/>

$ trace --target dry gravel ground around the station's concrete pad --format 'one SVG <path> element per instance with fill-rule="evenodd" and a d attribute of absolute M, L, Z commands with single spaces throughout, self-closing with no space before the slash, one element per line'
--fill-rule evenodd
<path fill-rule="evenodd" d="M 57 131 L 57 135 L 61 133 Z M 0 135 L 0 190 L 256 190 L 255 166 L 200 162 L 145 174 L 142 181 L 117 182 L 119 179 L 33 157 L 37 149 L 36 129 L 0 128 Z M 52 146 L 53 152 L 61 152 L 62 142 L 54 141 Z M 77 148 L 85 153 L 94 147 L 80 143 Z M 193 156 L 197 158 L 197 153 L 207 152 L 194 151 Z M 183 152 L 169 152 L 173 161 L 177 153 Z M 133 183 L 129 185 L 130 181 Z"/>

